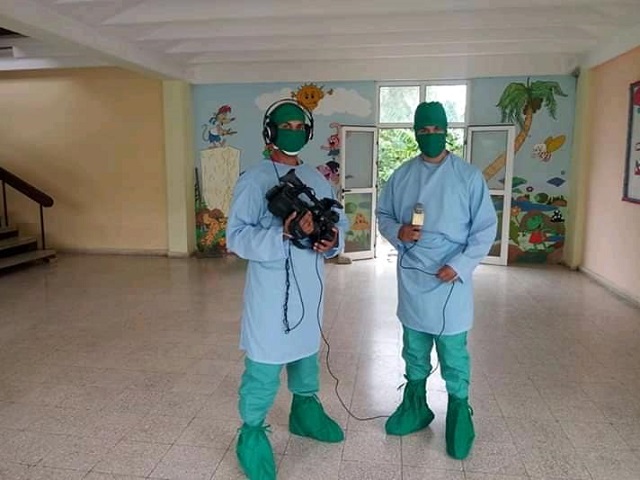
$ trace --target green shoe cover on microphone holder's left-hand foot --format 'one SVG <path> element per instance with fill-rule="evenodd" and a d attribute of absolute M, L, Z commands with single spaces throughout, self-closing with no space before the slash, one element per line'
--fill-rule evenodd
<path fill-rule="evenodd" d="M 402 403 L 385 424 L 389 435 L 409 435 L 427 428 L 434 414 L 427 405 L 427 379 L 408 380 Z"/>

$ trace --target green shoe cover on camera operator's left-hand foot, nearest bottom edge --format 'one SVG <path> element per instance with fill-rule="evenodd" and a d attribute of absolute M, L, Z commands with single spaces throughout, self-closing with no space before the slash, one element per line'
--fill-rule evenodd
<path fill-rule="evenodd" d="M 240 429 L 236 455 L 242 471 L 249 480 L 276 479 L 276 463 L 271 443 L 267 438 L 268 428 L 244 424 Z"/>

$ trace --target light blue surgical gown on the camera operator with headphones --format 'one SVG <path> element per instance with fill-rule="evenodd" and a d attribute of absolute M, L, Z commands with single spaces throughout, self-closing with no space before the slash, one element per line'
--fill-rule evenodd
<path fill-rule="evenodd" d="M 269 212 L 265 195 L 279 183 L 278 176 L 285 175 L 292 168 L 300 180 L 314 190 L 318 199 L 334 198 L 331 185 L 315 168 L 262 160 L 238 179 L 229 212 L 227 248 L 249 261 L 240 348 L 255 362 L 286 364 L 318 352 L 318 316 L 322 322 L 324 300 L 321 293 L 327 291 L 320 280 L 324 282 L 324 257 L 331 258 L 344 247 L 347 226 L 344 210 L 340 210 L 340 221 L 336 225 L 339 242 L 324 257 L 313 250 L 297 248 L 284 239 L 283 221 Z M 305 199 L 304 196 L 302 198 Z M 285 261 L 288 255 L 290 288 L 287 312 L 292 330 L 285 333 Z"/>

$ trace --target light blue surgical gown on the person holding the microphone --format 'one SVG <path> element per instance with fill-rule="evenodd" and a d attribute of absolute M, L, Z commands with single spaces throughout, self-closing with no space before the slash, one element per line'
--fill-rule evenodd
<path fill-rule="evenodd" d="M 398 232 L 411 223 L 416 203 L 422 203 L 425 214 L 420 240 L 402 242 Z M 377 215 L 381 234 L 398 250 L 397 315 L 402 324 L 432 335 L 471 329 L 472 273 L 489 252 L 497 228 L 480 170 L 453 154 L 440 164 L 420 156 L 408 160 L 385 185 Z M 453 290 L 452 284 L 430 275 L 444 265 L 458 274 Z"/>

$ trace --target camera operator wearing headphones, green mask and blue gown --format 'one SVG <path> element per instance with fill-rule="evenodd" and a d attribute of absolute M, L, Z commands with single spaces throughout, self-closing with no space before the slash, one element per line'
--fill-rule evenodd
<path fill-rule="evenodd" d="M 271 158 L 240 176 L 227 224 L 228 249 L 248 260 L 240 335 L 240 348 L 246 354 L 238 402 L 243 424 L 236 454 L 250 480 L 276 478 L 265 419 L 283 366 L 293 394 L 290 432 L 321 442 L 344 439 L 342 428 L 325 413 L 317 393 L 324 259 L 344 248 L 346 216 L 340 211 L 331 240 L 299 248 L 300 243 L 293 242 L 294 233 L 314 232 L 311 213 L 302 218 L 294 213 L 283 221 L 268 210 L 266 194 L 293 169 L 317 198 L 333 198 L 331 185 L 299 157 L 313 138 L 313 116 L 295 100 L 281 100 L 265 112 L 262 135 Z"/>

